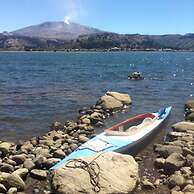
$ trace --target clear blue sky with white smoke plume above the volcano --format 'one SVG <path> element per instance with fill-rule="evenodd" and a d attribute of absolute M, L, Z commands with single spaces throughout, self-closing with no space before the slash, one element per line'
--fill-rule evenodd
<path fill-rule="evenodd" d="M 1 0 L 0 32 L 72 21 L 122 34 L 194 33 L 194 0 Z"/>

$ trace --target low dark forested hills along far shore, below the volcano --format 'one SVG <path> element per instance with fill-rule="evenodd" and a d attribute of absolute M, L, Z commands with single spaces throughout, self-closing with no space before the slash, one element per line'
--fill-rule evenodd
<path fill-rule="evenodd" d="M 99 32 L 75 39 L 28 37 L 0 33 L 0 50 L 192 50 L 194 34 L 121 35 Z"/>

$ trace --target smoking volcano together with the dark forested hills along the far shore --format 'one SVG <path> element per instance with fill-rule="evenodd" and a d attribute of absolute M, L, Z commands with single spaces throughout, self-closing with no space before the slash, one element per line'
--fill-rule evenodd
<path fill-rule="evenodd" d="M 191 50 L 194 34 L 140 35 L 103 32 L 80 24 L 45 22 L 0 33 L 0 50 Z"/>

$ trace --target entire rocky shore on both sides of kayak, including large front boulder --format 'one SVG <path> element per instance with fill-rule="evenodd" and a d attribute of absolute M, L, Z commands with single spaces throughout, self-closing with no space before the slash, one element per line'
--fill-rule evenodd
<path fill-rule="evenodd" d="M 194 100 L 185 104 L 185 121 L 172 125 L 153 150 L 135 158 L 114 152 L 86 158 L 95 163 L 85 170 L 49 170 L 131 103 L 128 94 L 107 92 L 96 105 L 79 110 L 77 121 L 54 122 L 44 136 L 17 145 L 0 141 L 0 193 L 96 193 L 96 187 L 99 193 L 194 193 Z"/>

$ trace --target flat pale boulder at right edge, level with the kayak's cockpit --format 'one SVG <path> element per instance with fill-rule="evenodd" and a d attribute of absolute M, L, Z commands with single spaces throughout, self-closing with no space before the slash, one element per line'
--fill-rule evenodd
<path fill-rule="evenodd" d="M 182 121 L 172 125 L 172 128 L 177 132 L 186 132 L 187 130 L 194 131 L 194 123 Z"/>

